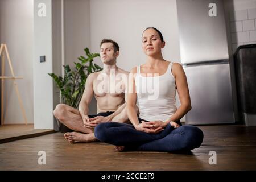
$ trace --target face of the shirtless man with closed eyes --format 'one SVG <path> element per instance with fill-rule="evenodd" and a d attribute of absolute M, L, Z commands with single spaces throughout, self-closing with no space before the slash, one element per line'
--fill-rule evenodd
<path fill-rule="evenodd" d="M 101 61 L 104 64 L 112 64 L 118 57 L 119 52 L 114 51 L 113 44 L 111 42 L 103 43 L 101 45 Z"/>

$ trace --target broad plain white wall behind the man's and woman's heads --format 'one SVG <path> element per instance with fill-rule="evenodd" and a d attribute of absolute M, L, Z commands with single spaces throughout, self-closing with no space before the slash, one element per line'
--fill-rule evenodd
<path fill-rule="evenodd" d="M 90 32 L 92 51 L 99 52 L 104 38 L 120 46 L 117 65 L 126 71 L 146 60 L 141 48 L 142 32 L 156 27 L 166 40 L 163 57 L 179 61 L 179 36 L 175 0 L 93 0 L 90 1 Z M 97 63 L 101 64 L 100 59 Z"/>

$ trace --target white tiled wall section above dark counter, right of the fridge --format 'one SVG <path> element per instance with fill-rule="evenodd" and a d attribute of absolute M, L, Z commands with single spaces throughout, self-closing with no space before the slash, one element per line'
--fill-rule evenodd
<path fill-rule="evenodd" d="M 229 22 L 233 53 L 240 45 L 256 44 L 256 8 L 230 11 Z"/>

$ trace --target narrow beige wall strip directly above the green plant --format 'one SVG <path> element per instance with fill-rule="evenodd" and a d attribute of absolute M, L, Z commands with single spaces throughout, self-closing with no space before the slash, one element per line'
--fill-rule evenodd
<path fill-rule="evenodd" d="M 77 57 L 85 56 L 84 48 L 90 47 L 90 0 L 64 0 L 65 64 L 74 67 Z M 90 49 L 90 51 L 92 51 Z M 97 49 L 96 52 L 99 52 Z M 89 114 L 97 113 L 96 100 L 89 106 Z"/>

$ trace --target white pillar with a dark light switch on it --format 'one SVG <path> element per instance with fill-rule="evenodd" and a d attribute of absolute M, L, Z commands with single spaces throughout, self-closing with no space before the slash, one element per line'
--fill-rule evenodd
<path fill-rule="evenodd" d="M 38 16 L 38 4 L 45 3 L 46 16 Z M 46 62 L 40 63 L 40 56 Z M 34 128 L 53 129 L 52 2 L 34 1 Z"/>

